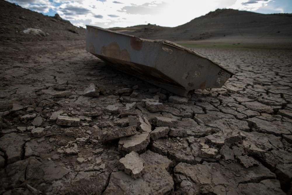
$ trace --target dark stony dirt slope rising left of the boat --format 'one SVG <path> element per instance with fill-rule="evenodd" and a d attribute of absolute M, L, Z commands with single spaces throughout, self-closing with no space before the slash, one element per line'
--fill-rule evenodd
<path fill-rule="evenodd" d="M 29 28 L 39 29 L 44 33 L 24 33 Z M 9 41 L 59 41 L 85 39 L 85 29 L 54 17 L 43 15 L 7 1 L 0 0 L 0 40 Z"/>

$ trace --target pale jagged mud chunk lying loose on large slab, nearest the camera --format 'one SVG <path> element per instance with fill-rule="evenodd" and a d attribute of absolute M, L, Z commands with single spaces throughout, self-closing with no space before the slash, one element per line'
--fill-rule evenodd
<path fill-rule="evenodd" d="M 143 159 L 139 157 L 138 153 L 132 151 L 126 154 L 124 158 L 121 158 L 119 162 L 126 174 L 131 175 L 135 179 L 142 176 L 145 167 Z"/>

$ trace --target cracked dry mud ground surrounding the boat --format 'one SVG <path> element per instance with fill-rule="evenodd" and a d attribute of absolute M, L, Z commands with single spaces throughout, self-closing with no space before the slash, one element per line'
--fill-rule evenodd
<path fill-rule="evenodd" d="M 292 193 L 291 51 L 198 48 L 236 75 L 182 99 L 84 45 L 6 45 L 0 194 Z"/>

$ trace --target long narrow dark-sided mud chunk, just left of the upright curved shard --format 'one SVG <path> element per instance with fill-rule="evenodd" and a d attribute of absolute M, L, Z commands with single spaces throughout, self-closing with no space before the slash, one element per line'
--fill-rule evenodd
<path fill-rule="evenodd" d="M 100 135 L 101 142 L 112 141 L 121 137 L 128 137 L 136 134 L 136 128 L 133 126 L 124 127 L 114 130 L 107 130 Z"/>

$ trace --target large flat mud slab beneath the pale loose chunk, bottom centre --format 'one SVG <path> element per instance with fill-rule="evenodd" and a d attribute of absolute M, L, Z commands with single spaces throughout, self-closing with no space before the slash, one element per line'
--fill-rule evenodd
<path fill-rule="evenodd" d="M 149 150 L 141 154 L 140 158 L 144 161 L 144 175 L 134 179 L 123 171 L 112 172 L 104 194 L 171 193 L 174 188 L 174 182 L 168 170 L 173 166 L 172 161 Z"/>

